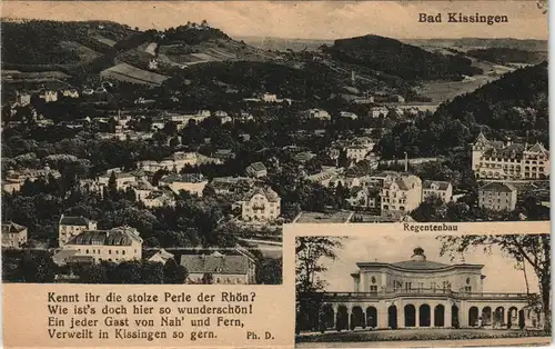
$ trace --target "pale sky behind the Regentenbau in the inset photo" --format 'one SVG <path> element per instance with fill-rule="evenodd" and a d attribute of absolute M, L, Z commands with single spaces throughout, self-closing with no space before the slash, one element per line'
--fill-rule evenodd
<path fill-rule="evenodd" d="M 362 261 L 397 262 L 410 260 L 416 247 L 424 249 L 424 255 L 430 261 L 446 265 L 458 262 L 457 257 L 451 261 L 450 256 L 440 257 L 442 242 L 435 236 L 407 236 L 384 237 L 373 236 L 364 238 L 347 238 L 343 240 L 343 248 L 337 250 L 337 259 L 333 262 L 324 261 L 327 271 L 322 279 L 327 281 L 329 291 L 353 291 L 354 283 L 352 272 L 357 270 L 356 263 Z M 521 270 L 516 270 L 514 259 L 498 249 L 484 252 L 482 248 L 474 248 L 463 255 L 464 261 L 472 265 L 484 265 L 482 275 L 484 279 L 484 292 L 526 292 L 526 283 Z M 526 265 L 526 273 L 531 292 L 537 292 L 537 278 L 529 265 Z"/>

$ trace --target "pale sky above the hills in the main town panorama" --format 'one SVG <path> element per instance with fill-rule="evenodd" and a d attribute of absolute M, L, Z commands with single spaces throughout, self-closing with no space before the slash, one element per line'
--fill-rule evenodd
<path fill-rule="evenodd" d="M 503 2 L 501 4 L 500 2 Z M 508 23 L 418 23 L 418 13 L 508 16 Z M 397 39 L 547 39 L 547 14 L 535 1 L 2 1 L 2 17 L 110 20 L 159 30 L 186 21 L 232 37 L 339 39 L 379 34 Z"/>

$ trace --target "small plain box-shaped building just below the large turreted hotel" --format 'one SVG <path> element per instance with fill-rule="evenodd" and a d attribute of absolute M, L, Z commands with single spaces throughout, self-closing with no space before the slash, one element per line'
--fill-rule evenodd
<path fill-rule="evenodd" d="M 517 190 L 511 183 L 490 182 L 478 189 L 478 207 L 494 211 L 513 211 Z"/>

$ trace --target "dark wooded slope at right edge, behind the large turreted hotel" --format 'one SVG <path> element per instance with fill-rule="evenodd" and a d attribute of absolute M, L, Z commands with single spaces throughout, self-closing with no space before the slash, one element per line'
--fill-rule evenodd
<path fill-rule="evenodd" d="M 396 124 L 379 143 L 382 157 L 400 158 L 466 153 L 481 129 L 487 137 L 524 139 L 549 144 L 547 62 L 506 73 L 463 94 L 414 122 Z"/>

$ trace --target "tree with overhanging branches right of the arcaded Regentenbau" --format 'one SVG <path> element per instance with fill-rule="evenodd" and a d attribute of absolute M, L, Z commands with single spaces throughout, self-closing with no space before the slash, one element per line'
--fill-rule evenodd
<path fill-rule="evenodd" d="M 498 247 L 515 259 L 515 263 L 527 262 L 538 279 L 539 299 L 544 313 L 544 330 L 551 330 L 551 236 L 501 235 L 501 236 L 444 236 L 441 256 L 450 253 L 452 259 L 474 247 L 488 250 Z"/>

